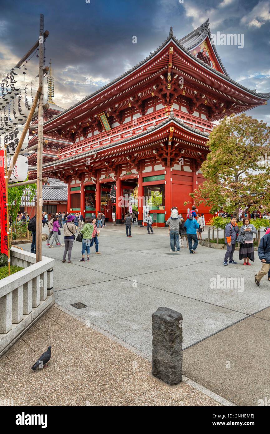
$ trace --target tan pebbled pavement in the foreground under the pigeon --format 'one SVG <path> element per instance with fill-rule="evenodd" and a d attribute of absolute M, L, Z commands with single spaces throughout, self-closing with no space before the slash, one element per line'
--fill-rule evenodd
<path fill-rule="evenodd" d="M 49 345 L 48 367 L 33 372 Z M 188 378 L 166 385 L 139 354 L 55 305 L 0 358 L 0 405 L 231 405 Z"/>

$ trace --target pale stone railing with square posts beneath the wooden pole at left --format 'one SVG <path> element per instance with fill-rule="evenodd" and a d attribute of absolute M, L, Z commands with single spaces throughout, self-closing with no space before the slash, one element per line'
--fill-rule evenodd
<path fill-rule="evenodd" d="M 0 280 L 0 357 L 54 304 L 54 259 L 10 249 L 11 265 L 24 267 Z"/>

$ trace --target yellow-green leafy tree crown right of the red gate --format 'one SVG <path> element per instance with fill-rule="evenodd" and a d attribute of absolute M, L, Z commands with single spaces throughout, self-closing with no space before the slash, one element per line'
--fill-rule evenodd
<path fill-rule="evenodd" d="M 241 114 L 224 118 L 208 141 L 210 153 L 202 164 L 205 181 L 190 194 L 210 212 L 223 208 L 236 214 L 270 207 L 270 127 Z"/>

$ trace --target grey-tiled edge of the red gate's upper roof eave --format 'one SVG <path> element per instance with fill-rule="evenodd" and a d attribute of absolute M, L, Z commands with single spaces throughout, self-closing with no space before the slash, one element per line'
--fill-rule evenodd
<path fill-rule="evenodd" d="M 241 91 L 247 92 L 252 96 L 256 96 L 259 99 L 270 99 L 270 93 L 269 94 L 260 94 L 260 93 L 256 93 L 254 91 L 251 91 L 250 89 L 246 88 L 245 86 L 242 86 L 241 84 L 235 82 L 233 79 L 231 79 L 229 76 L 225 76 L 223 73 L 217 71 L 215 68 L 213 68 L 212 66 L 207 65 L 205 62 L 203 62 L 202 60 L 198 59 L 197 57 L 195 57 L 192 53 L 190 53 L 188 51 L 188 49 L 185 49 L 184 46 L 182 46 L 178 39 L 176 39 L 173 35 L 168 36 L 168 38 L 164 41 L 164 43 L 162 45 L 159 46 L 158 49 L 156 49 L 153 53 L 151 53 L 148 57 L 146 57 L 145 59 L 143 59 L 142 62 L 138 63 L 136 66 L 134 66 L 132 69 L 130 69 L 129 71 L 127 71 L 126 73 L 122 74 L 121 76 L 117 77 L 116 79 L 114 79 L 113 81 L 111 81 L 110 83 L 108 83 L 107 85 L 103 86 L 101 89 L 98 89 L 96 92 L 92 93 L 91 95 L 86 96 L 84 99 L 82 99 L 81 101 L 77 102 L 76 104 L 72 105 L 69 109 L 64 110 L 63 112 L 55 115 L 52 119 L 49 119 L 48 121 L 46 121 L 44 123 L 44 127 L 46 127 L 46 125 L 50 125 L 52 122 L 56 121 L 57 118 L 62 117 L 63 115 L 66 115 L 68 112 L 72 112 L 72 110 L 75 107 L 79 107 L 79 106 L 83 106 L 85 105 L 85 103 L 89 102 L 89 100 L 94 99 L 94 97 L 97 97 L 98 95 L 100 95 L 102 92 L 104 91 L 109 91 L 110 88 L 112 86 L 114 86 L 115 84 L 123 81 L 122 84 L 124 84 L 125 80 L 127 79 L 128 76 L 130 76 L 131 74 L 133 74 L 134 72 L 136 72 L 138 69 L 140 69 L 142 66 L 145 66 L 146 63 L 155 57 L 160 55 L 161 50 L 163 50 L 164 48 L 166 48 L 166 46 L 168 46 L 171 42 L 175 43 L 176 47 L 178 49 L 180 49 L 183 53 L 185 53 L 187 56 L 189 56 L 193 61 L 195 61 L 198 65 L 202 66 L 204 69 L 211 71 L 213 74 L 215 74 L 216 76 L 218 76 L 219 78 L 221 78 L 222 80 L 225 80 L 227 83 L 229 84 L 233 84 L 235 85 L 238 89 L 240 89 Z M 134 77 L 133 77 L 134 78 Z M 35 128 L 37 128 L 37 126 L 35 126 Z M 33 128 L 33 129 L 35 129 Z"/>

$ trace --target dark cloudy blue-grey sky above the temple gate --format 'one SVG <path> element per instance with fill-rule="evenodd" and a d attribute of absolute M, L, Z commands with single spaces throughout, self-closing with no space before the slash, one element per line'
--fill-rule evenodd
<path fill-rule="evenodd" d="M 89 3 L 88 3 L 89 1 Z M 44 14 L 46 65 L 56 104 L 68 108 L 153 52 L 173 26 L 180 39 L 210 20 L 211 33 L 244 34 L 244 47 L 217 46 L 230 77 L 270 92 L 270 0 L 1 0 L 0 77 L 28 51 Z M 134 44 L 133 36 L 137 36 Z M 27 63 L 36 75 L 36 56 Z M 270 102 L 252 114 L 270 123 Z"/>

